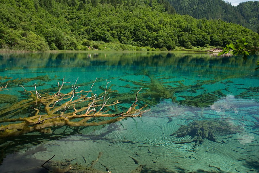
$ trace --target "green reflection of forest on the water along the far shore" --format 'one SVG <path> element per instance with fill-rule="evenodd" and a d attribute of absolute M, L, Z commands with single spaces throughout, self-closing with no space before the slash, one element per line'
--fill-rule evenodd
<path fill-rule="evenodd" d="M 242 57 L 218 57 L 212 53 L 174 53 L 174 52 L 64 52 L 64 53 L 6 53 L 0 55 L 0 70 L 12 68 L 45 67 L 87 67 L 129 69 L 142 67 L 177 67 L 178 70 L 197 68 L 202 71 L 227 70 L 230 66 L 254 68 L 258 55 L 247 60 Z"/>

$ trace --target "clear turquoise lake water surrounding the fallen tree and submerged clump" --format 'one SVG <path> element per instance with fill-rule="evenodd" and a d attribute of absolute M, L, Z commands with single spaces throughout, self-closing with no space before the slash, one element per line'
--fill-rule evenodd
<path fill-rule="evenodd" d="M 54 161 L 87 166 L 102 152 L 94 168 L 103 172 L 105 167 L 131 172 L 139 165 L 142 172 L 259 172 L 259 71 L 254 70 L 258 58 L 151 52 L 2 54 L 1 77 L 52 79 L 22 84 L 28 91 L 36 83 L 39 92 L 46 92 L 65 76 L 71 83 L 78 77 L 77 84 L 85 90 L 98 78 L 94 92 L 101 93 L 98 86 L 105 87 L 107 79 L 112 90 L 128 96 L 121 97 L 122 106 L 129 107 L 141 87 L 138 103 L 149 106 L 140 118 L 86 128 L 54 127 L 52 134 L 4 139 L 0 146 L 6 158 L 0 169 L 35 172 L 32 168 L 53 155 Z M 1 86 L 10 80 L 1 79 Z M 16 81 L 8 86 L 12 89 L 0 94 L 22 97 Z M 4 98 L 2 106 L 11 104 L 12 99 Z M 215 134 L 217 142 L 203 139 L 197 146 L 181 143 L 193 140 L 191 136 L 170 136 L 194 120 L 210 119 L 227 122 L 237 132 Z"/>

